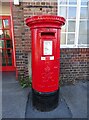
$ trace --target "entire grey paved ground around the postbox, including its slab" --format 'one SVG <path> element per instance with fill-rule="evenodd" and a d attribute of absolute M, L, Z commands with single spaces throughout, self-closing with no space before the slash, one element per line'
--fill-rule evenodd
<path fill-rule="evenodd" d="M 22 89 L 15 73 L 3 73 L 3 118 L 86 118 L 87 83 L 64 86 L 60 89 L 59 106 L 50 112 L 40 112 L 32 106 L 31 89 Z M 1 83 L 0 83 L 1 84 Z M 0 88 L 1 91 L 1 88 Z M 29 95 L 29 97 L 28 97 Z M 29 99 L 28 99 L 29 98 Z M 0 106 L 1 107 L 1 106 Z"/>

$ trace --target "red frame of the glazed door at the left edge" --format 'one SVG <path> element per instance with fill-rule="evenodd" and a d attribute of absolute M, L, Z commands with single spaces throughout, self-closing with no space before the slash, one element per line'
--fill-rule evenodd
<path fill-rule="evenodd" d="M 3 38 L 0 38 L 0 41 L 4 41 L 4 47 L 0 47 L 0 51 L 2 53 L 2 51 L 4 51 L 4 56 L 1 55 L 2 60 L 5 60 L 5 65 L 0 65 L 0 67 L 2 68 L 1 71 L 14 71 L 15 65 L 14 65 L 14 48 L 12 46 L 13 45 L 13 36 L 12 36 L 12 25 L 11 25 L 11 16 L 1 16 L 0 15 L 0 20 L 2 21 L 2 28 L 0 28 L 0 30 L 9 30 L 10 33 L 10 38 L 6 38 L 5 36 Z M 9 23 L 9 27 L 8 28 L 4 28 L 4 20 L 8 20 Z M 11 46 L 7 47 L 6 42 L 10 40 Z M 11 51 L 11 52 L 7 52 L 7 51 Z M 11 53 L 11 56 L 9 56 Z M 2 53 L 3 54 L 3 53 Z M 10 60 L 11 60 L 11 64 L 10 64 Z"/>

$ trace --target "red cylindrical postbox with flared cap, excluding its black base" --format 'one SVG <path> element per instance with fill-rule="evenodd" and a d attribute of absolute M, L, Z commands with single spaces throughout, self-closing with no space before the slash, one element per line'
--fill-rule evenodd
<path fill-rule="evenodd" d="M 65 19 L 33 16 L 26 19 L 26 24 L 32 34 L 32 87 L 38 92 L 54 92 L 59 88 L 60 31 Z"/>

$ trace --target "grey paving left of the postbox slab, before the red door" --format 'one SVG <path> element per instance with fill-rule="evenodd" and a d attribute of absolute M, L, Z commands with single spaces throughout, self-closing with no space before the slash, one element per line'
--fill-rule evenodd
<path fill-rule="evenodd" d="M 3 73 L 2 81 L 2 117 L 25 118 L 28 88 L 21 88 L 14 72 Z"/>

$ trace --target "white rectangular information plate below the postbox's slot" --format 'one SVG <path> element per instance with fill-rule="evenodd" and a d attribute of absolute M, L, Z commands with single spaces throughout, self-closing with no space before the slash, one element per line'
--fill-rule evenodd
<path fill-rule="evenodd" d="M 52 41 L 44 41 L 43 43 L 43 54 L 52 55 Z"/>

